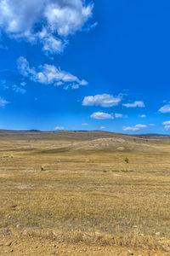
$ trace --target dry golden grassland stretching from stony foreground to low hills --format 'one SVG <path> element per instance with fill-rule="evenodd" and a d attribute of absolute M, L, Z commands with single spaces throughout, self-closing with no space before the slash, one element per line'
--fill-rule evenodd
<path fill-rule="evenodd" d="M 0 255 L 170 255 L 170 137 L 0 131 L 0 142 Z"/>

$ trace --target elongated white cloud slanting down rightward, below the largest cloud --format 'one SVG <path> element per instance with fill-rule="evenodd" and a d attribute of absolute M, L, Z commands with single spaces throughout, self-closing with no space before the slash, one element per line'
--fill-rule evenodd
<path fill-rule="evenodd" d="M 34 82 L 56 85 L 69 83 L 74 89 L 76 89 L 76 85 L 78 88 L 80 85 L 88 84 L 87 81 L 80 80 L 71 73 L 66 73 L 53 65 L 45 64 L 40 66 L 39 71 L 37 71 L 35 67 L 30 67 L 29 62 L 24 57 L 20 57 L 17 62 L 20 73 Z"/>

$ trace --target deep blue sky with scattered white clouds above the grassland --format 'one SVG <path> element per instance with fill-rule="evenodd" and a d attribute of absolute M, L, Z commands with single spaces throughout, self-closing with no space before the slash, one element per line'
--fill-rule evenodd
<path fill-rule="evenodd" d="M 0 129 L 169 134 L 169 13 L 169 1 L 0 0 Z"/>

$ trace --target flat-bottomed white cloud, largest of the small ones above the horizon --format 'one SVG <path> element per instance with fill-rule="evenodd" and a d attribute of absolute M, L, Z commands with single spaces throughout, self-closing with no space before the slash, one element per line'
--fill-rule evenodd
<path fill-rule="evenodd" d="M 83 106 L 101 106 L 105 108 L 113 107 L 122 101 L 121 96 L 112 96 L 110 94 L 102 94 L 96 96 L 86 96 L 83 99 Z"/>

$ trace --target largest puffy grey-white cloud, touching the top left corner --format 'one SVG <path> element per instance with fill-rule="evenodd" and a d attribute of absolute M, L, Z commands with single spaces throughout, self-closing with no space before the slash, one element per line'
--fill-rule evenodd
<path fill-rule="evenodd" d="M 82 0 L 1 0 L 0 29 L 12 38 L 39 40 L 43 50 L 57 53 L 67 36 L 82 29 L 93 8 Z"/>

